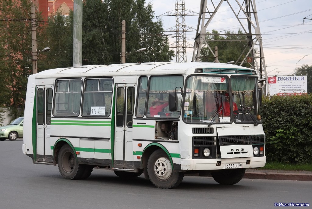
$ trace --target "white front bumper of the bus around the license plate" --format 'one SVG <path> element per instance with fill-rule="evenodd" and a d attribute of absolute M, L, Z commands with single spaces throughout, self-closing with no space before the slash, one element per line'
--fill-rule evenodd
<path fill-rule="evenodd" d="M 217 161 L 221 161 L 221 164 Z M 181 170 L 223 170 L 226 169 L 226 163 L 241 163 L 242 168 L 260 168 L 265 166 L 266 156 L 226 159 L 181 159 Z M 220 165 L 217 166 L 217 164 Z"/>

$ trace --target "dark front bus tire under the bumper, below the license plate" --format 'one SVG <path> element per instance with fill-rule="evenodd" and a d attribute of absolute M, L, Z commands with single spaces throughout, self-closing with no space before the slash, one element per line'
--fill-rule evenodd
<path fill-rule="evenodd" d="M 211 173 L 216 182 L 223 185 L 237 184 L 245 174 L 245 168 L 222 170 Z"/>

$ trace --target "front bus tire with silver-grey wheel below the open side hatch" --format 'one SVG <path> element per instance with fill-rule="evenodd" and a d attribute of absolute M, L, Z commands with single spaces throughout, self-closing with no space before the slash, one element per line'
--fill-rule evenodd
<path fill-rule="evenodd" d="M 177 187 L 184 174 L 174 172 L 168 155 L 162 150 L 155 150 L 147 162 L 147 173 L 150 181 L 158 188 L 171 189 Z"/>

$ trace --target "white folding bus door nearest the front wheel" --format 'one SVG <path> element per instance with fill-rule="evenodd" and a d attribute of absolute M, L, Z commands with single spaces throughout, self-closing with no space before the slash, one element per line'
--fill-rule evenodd
<path fill-rule="evenodd" d="M 132 148 L 132 121 L 135 84 L 116 84 L 115 101 L 115 170 L 134 170 Z"/>

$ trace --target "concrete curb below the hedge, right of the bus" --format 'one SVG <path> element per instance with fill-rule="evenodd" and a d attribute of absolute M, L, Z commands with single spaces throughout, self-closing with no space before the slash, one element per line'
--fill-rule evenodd
<path fill-rule="evenodd" d="M 245 172 L 244 179 L 312 181 L 312 174 Z"/>

